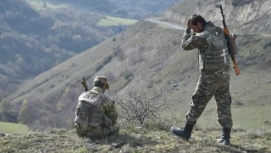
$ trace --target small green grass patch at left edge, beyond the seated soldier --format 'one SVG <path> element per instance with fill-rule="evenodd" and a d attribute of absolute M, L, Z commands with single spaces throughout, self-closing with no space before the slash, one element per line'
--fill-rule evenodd
<path fill-rule="evenodd" d="M 13 122 L 0 122 L 0 133 L 1 134 L 14 134 L 14 133 L 25 133 L 28 131 L 28 127 L 25 124 L 18 124 Z"/>

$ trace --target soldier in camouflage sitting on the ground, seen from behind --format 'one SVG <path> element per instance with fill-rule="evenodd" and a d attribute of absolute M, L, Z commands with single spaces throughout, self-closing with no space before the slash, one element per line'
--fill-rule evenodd
<path fill-rule="evenodd" d="M 79 96 L 74 128 L 76 134 L 87 138 L 103 138 L 117 133 L 117 111 L 110 97 L 104 95 L 109 88 L 107 78 L 97 76 L 92 90 Z"/>

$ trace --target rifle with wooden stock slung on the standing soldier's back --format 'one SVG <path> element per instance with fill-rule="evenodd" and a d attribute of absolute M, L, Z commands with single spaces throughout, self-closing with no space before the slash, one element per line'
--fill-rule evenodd
<path fill-rule="evenodd" d="M 234 49 L 233 49 L 231 39 L 229 38 L 229 29 L 228 29 L 228 27 L 226 25 L 226 22 L 225 22 L 223 8 L 222 8 L 221 4 L 220 4 L 220 11 L 221 11 L 220 13 L 222 14 L 222 17 L 223 17 L 224 33 L 225 33 L 225 38 L 227 40 L 229 55 L 231 56 L 231 60 L 233 61 L 233 68 L 234 68 L 234 70 L 236 72 L 236 76 L 238 76 L 240 74 L 240 70 L 239 70 L 238 65 L 237 65 L 236 57 L 234 55 Z"/>

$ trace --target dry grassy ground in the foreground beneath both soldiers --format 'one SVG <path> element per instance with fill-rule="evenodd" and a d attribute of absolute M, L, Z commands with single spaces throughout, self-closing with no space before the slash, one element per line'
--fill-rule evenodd
<path fill-rule="evenodd" d="M 197 129 L 189 141 L 158 129 L 122 129 L 109 138 L 79 138 L 74 131 L 47 129 L 42 132 L 0 137 L 0 152 L 271 152 L 268 131 L 235 129 L 229 147 L 216 144 L 217 129 Z"/>

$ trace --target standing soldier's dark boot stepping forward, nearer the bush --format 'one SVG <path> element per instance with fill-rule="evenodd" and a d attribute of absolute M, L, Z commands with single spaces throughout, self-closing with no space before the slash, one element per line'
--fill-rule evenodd
<path fill-rule="evenodd" d="M 186 123 L 184 128 L 171 127 L 170 131 L 172 131 L 176 136 L 180 136 L 184 140 L 188 140 L 191 136 L 193 127 L 193 125 Z"/>

